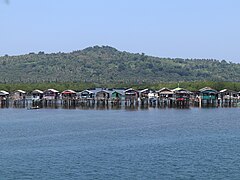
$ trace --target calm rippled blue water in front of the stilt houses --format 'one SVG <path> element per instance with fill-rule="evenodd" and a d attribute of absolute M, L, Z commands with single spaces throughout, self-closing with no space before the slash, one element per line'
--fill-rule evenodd
<path fill-rule="evenodd" d="M 0 109 L 0 179 L 240 179 L 240 108 Z"/>

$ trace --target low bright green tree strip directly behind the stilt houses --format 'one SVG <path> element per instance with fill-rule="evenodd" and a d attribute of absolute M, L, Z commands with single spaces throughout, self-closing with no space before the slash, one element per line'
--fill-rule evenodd
<path fill-rule="evenodd" d="M 46 90 L 54 88 L 60 92 L 72 89 L 77 92 L 83 91 L 85 89 L 92 88 L 134 88 L 134 89 L 153 89 L 160 90 L 163 87 L 169 89 L 174 89 L 180 86 L 189 91 L 198 91 L 203 87 L 211 87 L 218 91 L 223 89 L 230 89 L 239 92 L 240 82 L 211 82 L 211 81 L 196 81 L 196 82 L 180 82 L 180 83 L 156 83 L 156 84 L 97 84 L 97 83 L 84 83 L 84 82 L 65 82 L 65 83 L 13 83 L 13 84 L 0 84 L 0 90 L 5 90 L 8 92 L 14 92 L 15 90 L 24 90 L 31 92 L 35 89 Z"/>

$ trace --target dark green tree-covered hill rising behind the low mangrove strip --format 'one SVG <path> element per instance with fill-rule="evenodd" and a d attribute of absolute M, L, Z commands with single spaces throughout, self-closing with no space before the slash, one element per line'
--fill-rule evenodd
<path fill-rule="evenodd" d="M 240 81 L 240 64 L 206 59 L 170 59 L 95 46 L 71 53 L 0 57 L 0 83 L 158 83 Z"/>

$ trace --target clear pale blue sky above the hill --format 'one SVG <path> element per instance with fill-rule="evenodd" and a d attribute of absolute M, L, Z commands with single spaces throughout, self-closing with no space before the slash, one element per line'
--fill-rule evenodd
<path fill-rule="evenodd" d="M 0 56 L 109 45 L 240 63 L 239 0 L 0 0 Z"/>

